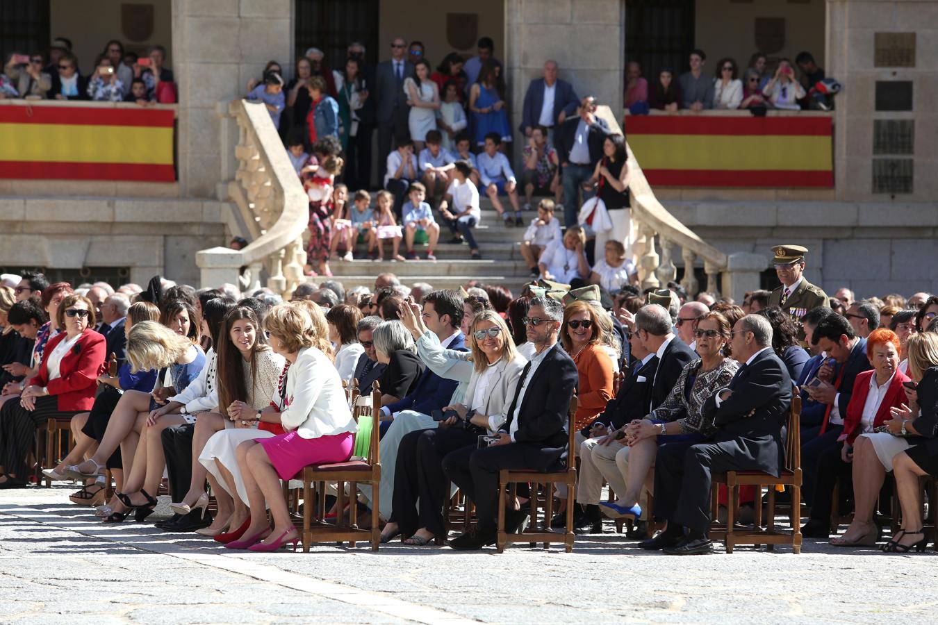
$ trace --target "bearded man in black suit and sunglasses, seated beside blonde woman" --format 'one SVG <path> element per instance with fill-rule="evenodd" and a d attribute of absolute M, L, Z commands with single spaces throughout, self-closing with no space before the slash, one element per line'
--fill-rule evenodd
<path fill-rule="evenodd" d="M 501 469 L 550 470 L 567 451 L 567 410 L 580 379 L 577 365 L 557 345 L 564 308 L 546 297 L 531 300 L 525 318 L 527 338 L 535 353 L 525 365 L 507 421 L 491 446 L 446 454 L 443 469 L 463 493 L 476 502 L 478 525 L 453 540 L 453 549 L 480 549 L 495 543 L 498 472 Z M 527 513 L 508 513 L 507 528 L 521 527 Z"/>

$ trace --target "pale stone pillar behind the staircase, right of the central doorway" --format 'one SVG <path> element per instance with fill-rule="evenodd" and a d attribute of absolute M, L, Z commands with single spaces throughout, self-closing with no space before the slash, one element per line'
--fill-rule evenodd
<path fill-rule="evenodd" d="M 507 76 L 516 131 L 528 83 L 543 76 L 549 59 L 557 62 L 561 80 L 572 84 L 578 96 L 595 96 L 621 119 L 624 2 L 506 0 L 505 5 Z"/>

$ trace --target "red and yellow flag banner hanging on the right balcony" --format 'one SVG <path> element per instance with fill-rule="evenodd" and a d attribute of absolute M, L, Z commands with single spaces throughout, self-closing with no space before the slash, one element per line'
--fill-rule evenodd
<path fill-rule="evenodd" d="M 834 186 L 831 118 L 629 115 L 628 144 L 658 186 Z"/>

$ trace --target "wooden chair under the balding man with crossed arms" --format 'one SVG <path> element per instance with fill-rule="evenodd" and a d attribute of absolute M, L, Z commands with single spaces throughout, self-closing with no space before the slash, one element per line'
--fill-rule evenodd
<path fill-rule="evenodd" d="M 800 506 L 791 506 L 788 517 L 792 525 L 791 532 L 779 531 L 775 527 L 776 506 L 775 487 L 788 486 L 792 489 L 792 501 L 801 500 L 801 397 L 795 393 L 792 396 L 792 407 L 788 414 L 788 427 L 785 437 L 785 467 L 779 472 L 779 477 L 769 475 L 762 471 L 727 471 L 723 475 L 714 475 L 713 502 L 716 507 L 717 485 L 726 484 L 726 553 L 732 554 L 736 544 L 765 544 L 769 551 L 776 544 L 791 544 L 794 553 L 801 553 L 801 516 Z M 739 487 L 756 486 L 754 502 L 755 523 L 749 530 L 735 528 L 735 518 L 739 514 Z M 768 487 L 768 509 L 766 512 L 766 528 L 762 528 L 762 487 Z M 716 518 L 716 516 L 715 516 Z M 711 532 L 711 538 L 715 532 Z"/>

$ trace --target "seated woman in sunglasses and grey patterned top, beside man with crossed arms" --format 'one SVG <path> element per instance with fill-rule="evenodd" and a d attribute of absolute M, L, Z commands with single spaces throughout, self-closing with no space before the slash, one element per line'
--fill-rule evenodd
<path fill-rule="evenodd" d="M 615 503 L 599 505 L 616 514 L 642 515 L 638 505 L 648 472 L 655 464 L 658 445 L 675 441 L 703 441 L 716 431 L 712 421 L 703 417 L 703 403 L 719 389 L 726 388 L 739 364 L 724 352 L 731 338 L 730 322 L 718 312 L 709 312 L 696 321 L 699 360 L 688 363 L 664 402 L 642 421 L 633 421 L 609 436 L 626 439 L 628 471 L 626 492 Z"/>

